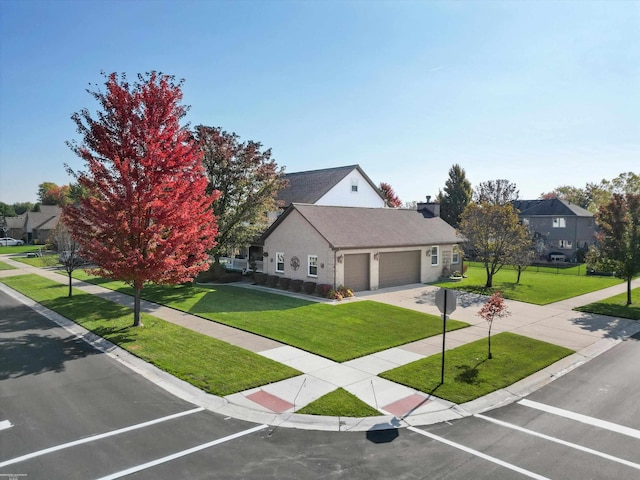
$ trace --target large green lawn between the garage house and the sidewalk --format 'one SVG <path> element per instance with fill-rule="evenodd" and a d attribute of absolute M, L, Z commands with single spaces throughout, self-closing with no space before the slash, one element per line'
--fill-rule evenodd
<path fill-rule="evenodd" d="M 74 276 L 133 293 L 121 282 L 89 277 L 84 272 Z M 336 362 L 442 333 L 438 316 L 372 301 L 329 305 L 230 285 L 150 285 L 142 290 L 142 296 Z M 449 331 L 466 326 L 455 320 L 447 322 Z"/>

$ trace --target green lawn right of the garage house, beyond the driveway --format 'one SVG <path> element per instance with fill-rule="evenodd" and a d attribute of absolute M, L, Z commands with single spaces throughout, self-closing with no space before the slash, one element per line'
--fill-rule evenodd
<path fill-rule="evenodd" d="M 435 285 L 483 295 L 491 295 L 494 291 L 499 290 L 503 297 L 511 300 L 547 305 L 602 290 L 622 282 L 615 277 L 569 275 L 567 271 L 556 275 L 555 273 L 536 271 L 536 267 L 529 267 L 522 272 L 520 283 L 516 284 L 518 273 L 512 267 L 507 266 L 493 277 L 492 288 L 484 288 L 487 274 L 483 266 L 477 265 L 471 264 L 466 272 L 467 278 L 460 282 L 438 282 Z M 579 267 L 573 268 L 577 272 Z M 582 268 L 584 269 L 584 266 Z M 546 267 L 546 269 L 547 271 L 554 270 L 550 267 Z"/>

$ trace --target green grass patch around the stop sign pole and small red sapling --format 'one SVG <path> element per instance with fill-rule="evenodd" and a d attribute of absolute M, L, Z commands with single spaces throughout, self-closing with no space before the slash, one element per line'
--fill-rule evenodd
<path fill-rule="evenodd" d="M 477 340 L 445 352 L 444 383 L 440 384 L 442 354 L 388 370 L 380 377 L 430 393 L 453 403 L 465 403 L 505 388 L 573 353 L 568 348 L 509 332 Z"/>

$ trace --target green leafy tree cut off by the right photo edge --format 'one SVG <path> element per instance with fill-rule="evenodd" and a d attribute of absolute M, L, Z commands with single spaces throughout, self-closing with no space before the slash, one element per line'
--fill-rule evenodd
<path fill-rule="evenodd" d="M 615 272 L 627 282 L 631 305 L 631 280 L 640 273 L 640 194 L 614 193 L 596 213 L 598 246 L 591 247 L 587 262 Z"/>

